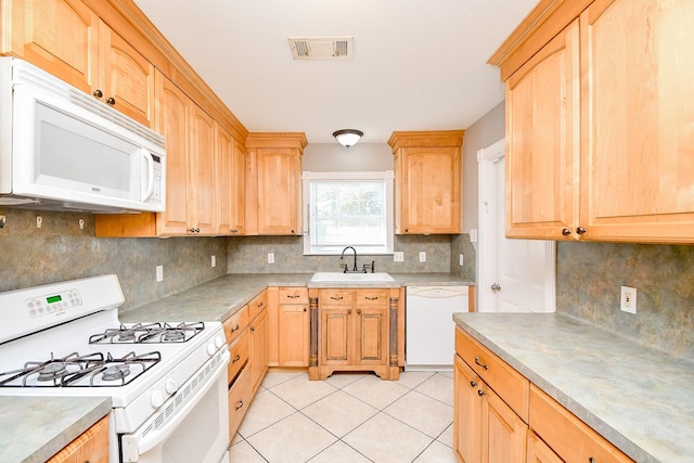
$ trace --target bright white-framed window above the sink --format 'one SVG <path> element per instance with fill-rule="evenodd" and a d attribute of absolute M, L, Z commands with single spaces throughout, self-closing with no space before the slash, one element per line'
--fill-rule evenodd
<path fill-rule="evenodd" d="M 393 254 L 393 170 L 304 172 L 304 254 Z"/>

